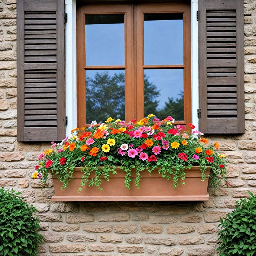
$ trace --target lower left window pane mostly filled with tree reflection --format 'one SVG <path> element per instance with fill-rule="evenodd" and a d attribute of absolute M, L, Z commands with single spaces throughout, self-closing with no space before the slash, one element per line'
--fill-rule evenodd
<path fill-rule="evenodd" d="M 124 70 L 86 70 L 86 123 L 124 120 Z"/>

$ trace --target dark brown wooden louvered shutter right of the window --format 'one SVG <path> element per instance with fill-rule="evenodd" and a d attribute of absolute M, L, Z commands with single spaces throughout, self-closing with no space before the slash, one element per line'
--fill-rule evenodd
<path fill-rule="evenodd" d="M 242 0 L 198 1 L 199 129 L 244 133 Z"/>

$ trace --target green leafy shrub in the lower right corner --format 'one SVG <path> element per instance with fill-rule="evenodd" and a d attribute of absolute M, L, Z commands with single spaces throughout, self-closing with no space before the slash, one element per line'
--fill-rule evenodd
<path fill-rule="evenodd" d="M 220 218 L 219 256 L 256 255 L 256 195 L 236 201 L 236 208 Z"/>

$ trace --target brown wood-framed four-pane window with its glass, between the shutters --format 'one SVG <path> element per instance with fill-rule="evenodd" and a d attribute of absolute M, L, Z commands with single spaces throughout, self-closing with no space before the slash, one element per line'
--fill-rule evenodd
<path fill-rule="evenodd" d="M 82 4 L 77 42 L 79 127 L 150 113 L 191 122 L 189 4 Z"/>

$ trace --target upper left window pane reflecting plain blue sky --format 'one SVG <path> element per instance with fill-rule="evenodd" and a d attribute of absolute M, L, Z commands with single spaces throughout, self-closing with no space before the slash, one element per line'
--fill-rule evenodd
<path fill-rule="evenodd" d="M 124 65 L 124 14 L 85 15 L 85 64 Z"/>

